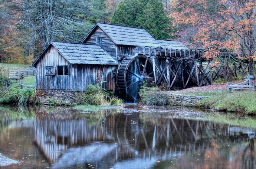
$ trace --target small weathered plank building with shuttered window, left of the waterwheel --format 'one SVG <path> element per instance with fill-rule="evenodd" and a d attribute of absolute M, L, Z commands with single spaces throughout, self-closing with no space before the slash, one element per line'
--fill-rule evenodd
<path fill-rule="evenodd" d="M 73 91 L 85 91 L 89 84 L 114 91 L 117 65 L 99 45 L 52 41 L 33 64 L 35 88 L 47 97 L 64 98 L 65 103 Z"/>

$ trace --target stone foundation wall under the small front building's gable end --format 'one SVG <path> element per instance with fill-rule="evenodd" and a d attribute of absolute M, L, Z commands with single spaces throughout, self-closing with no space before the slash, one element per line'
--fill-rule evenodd
<path fill-rule="evenodd" d="M 37 99 L 40 105 L 48 105 L 49 99 L 56 101 L 56 105 L 74 104 L 75 98 L 81 92 L 71 90 L 40 89 L 37 91 Z"/>

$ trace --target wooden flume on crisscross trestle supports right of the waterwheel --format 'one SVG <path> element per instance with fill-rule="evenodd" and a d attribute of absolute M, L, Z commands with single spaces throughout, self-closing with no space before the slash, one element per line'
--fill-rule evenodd
<path fill-rule="evenodd" d="M 175 50 L 163 47 L 136 47 L 134 54 L 144 55 L 152 61 L 155 85 L 161 82 L 171 89 L 175 84 L 186 88 L 188 85 L 201 86 L 204 81 L 212 84 L 220 78 L 224 63 L 214 69 L 211 60 L 204 57 L 204 51 Z M 232 75 L 245 74 L 248 70 L 247 60 L 241 60 L 235 53 L 220 53 L 219 58 L 233 62 Z"/>

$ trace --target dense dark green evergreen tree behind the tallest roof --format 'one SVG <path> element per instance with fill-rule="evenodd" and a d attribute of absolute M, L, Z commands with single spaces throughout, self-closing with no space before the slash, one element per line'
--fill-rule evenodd
<path fill-rule="evenodd" d="M 111 23 L 142 27 L 157 39 L 171 38 L 169 19 L 159 0 L 124 0 L 114 12 Z"/>

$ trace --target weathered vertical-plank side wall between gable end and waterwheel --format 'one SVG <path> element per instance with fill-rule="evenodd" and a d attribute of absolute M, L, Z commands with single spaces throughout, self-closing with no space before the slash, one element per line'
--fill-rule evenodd
<path fill-rule="evenodd" d="M 72 64 L 70 70 L 73 91 L 85 91 L 87 85 L 97 83 L 106 90 L 115 90 L 115 78 L 112 74 L 116 72 L 116 66 Z"/>

